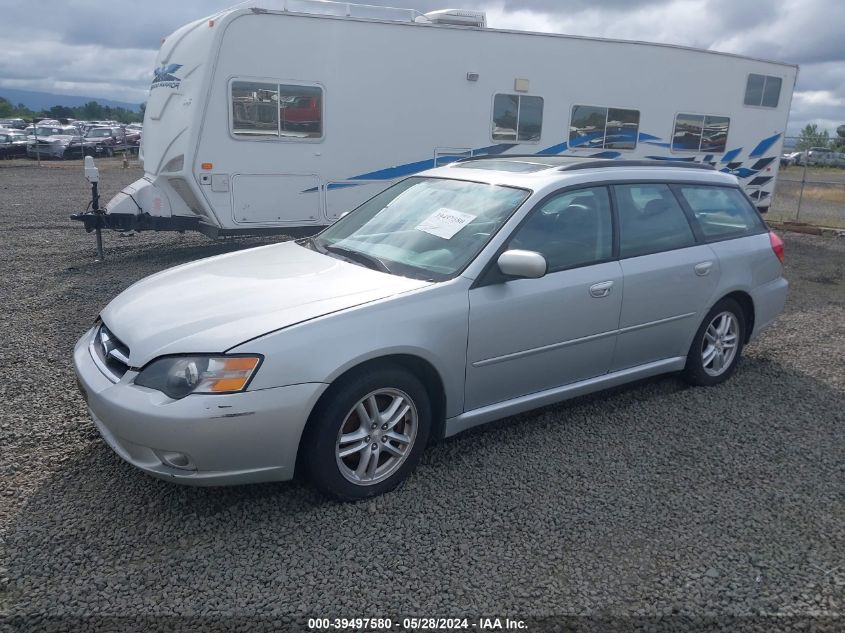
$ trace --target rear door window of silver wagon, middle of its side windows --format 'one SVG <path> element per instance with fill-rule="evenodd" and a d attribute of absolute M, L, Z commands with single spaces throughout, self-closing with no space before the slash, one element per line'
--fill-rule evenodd
<path fill-rule="evenodd" d="M 668 185 L 617 185 L 614 193 L 619 212 L 620 257 L 695 244 L 684 210 Z"/>

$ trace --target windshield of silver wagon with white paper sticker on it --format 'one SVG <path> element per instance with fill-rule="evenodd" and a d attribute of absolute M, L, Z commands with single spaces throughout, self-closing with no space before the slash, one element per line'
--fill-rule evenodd
<path fill-rule="evenodd" d="M 463 270 L 529 194 L 463 180 L 408 178 L 309 243 L 384 272 L 442 281 Z"/>

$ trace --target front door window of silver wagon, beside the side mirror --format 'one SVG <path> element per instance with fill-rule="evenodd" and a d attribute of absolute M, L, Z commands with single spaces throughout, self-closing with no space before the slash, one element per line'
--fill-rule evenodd
<path fill-rule="evenodd" d="M 550 198 L 532 211 L 510 247 L 540 253 L 550 273 L 610 259 L 613 223 L 607 189 L 580 189 Z"/>

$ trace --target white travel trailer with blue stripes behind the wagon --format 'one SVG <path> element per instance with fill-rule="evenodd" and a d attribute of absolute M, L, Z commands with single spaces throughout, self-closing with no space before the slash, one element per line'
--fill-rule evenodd
<path fill-rule="evenodd" d="M 258 0 L 167 37 L 145 175 L 86 228 L 315 232 L 396 180 L 464 157 L 710 163 L 766 210 L 797 67 L 680 46 Z"/>

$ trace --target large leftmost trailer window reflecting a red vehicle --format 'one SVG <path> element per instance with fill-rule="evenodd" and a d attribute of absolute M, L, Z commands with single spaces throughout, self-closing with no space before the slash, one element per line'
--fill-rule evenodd
<path fill-rule="evenodd" d="M 323 91 L 315 86 L 233 81 L 232 132 L 244 136 L 320 138 Z"/>

